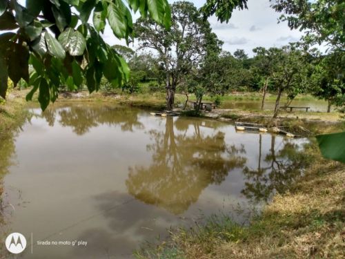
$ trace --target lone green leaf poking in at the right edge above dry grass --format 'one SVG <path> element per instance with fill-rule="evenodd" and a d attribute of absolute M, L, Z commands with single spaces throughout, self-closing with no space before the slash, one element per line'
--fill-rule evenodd
<path fill-rule="evenodd" d="M 345 163 L 345 131 L 317 135 L 316 139 L 323 157 Z"/>

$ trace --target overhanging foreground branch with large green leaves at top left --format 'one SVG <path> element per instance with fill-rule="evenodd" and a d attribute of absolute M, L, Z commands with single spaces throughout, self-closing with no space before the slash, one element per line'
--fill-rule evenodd
<path fill-rule="evenodd" d="M 141 17 L 170 26 L 166 0 L 129 0 L 128 6 Z M 92 15 L 93 25 L 88 23 Z M 59 86 L 79 86 L 86 79 L 90 93 L 99 89 L 104 75 L 113 86 L 128 81 L 126 61 L 110 48 L 99 32 L 106 23 L 114 35 L 128 42 L 133 35 L 130 10 L 121 0 L 0 0 L 0 95 L 6 97 L 8 77 L 33 86 L 27 99 L 39 90 L 44 110 L 55 102 Z M 29 75 L 29 63 L 34 72 Z"/>

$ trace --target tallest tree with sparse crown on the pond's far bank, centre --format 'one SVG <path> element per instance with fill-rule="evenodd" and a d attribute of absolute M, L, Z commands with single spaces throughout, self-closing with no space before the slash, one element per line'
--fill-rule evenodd
<path fill-rule="evenodd" d="M 173 3 L 172 26 L 167 30 L 151 19 L 139 19 L 135 31 L 140 48 L 151 48 L 158 53 L 159 62 L 165 71 L 166 106 L 172 109 L 175 91 L 191 68 L 198 66 L 206 55 L 210 23 L 202 19 L 193 3 Z"/>

